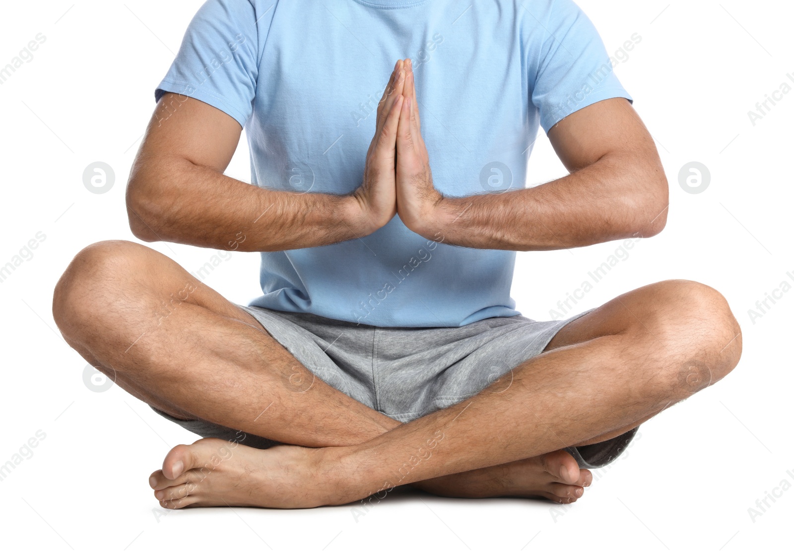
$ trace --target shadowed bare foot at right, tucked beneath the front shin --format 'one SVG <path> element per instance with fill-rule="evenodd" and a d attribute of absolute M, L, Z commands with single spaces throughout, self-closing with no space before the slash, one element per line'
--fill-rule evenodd
<path fill-rule="evenodd" d="M 489 468 L 441 476 L 414 484 L 446 497 L 545 497 L 574 503 L 592 484 L 592 472 L 580 469 L 566 451 L 554 451 Z"/>

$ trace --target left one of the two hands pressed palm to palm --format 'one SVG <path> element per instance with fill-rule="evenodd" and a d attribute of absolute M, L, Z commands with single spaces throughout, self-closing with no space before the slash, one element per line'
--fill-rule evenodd
<path fill-rule="evenodd" d="M 360 208 L 361 229 L 374 233 L 397 213 L 395 160 L 397 124 L 403 106 L 403 84 L 406 68 L 404 60 L 397 60 L 391 77 L 378 102 L 375 135 L 367 151 L 364 179 L 353 192 Z"/>

